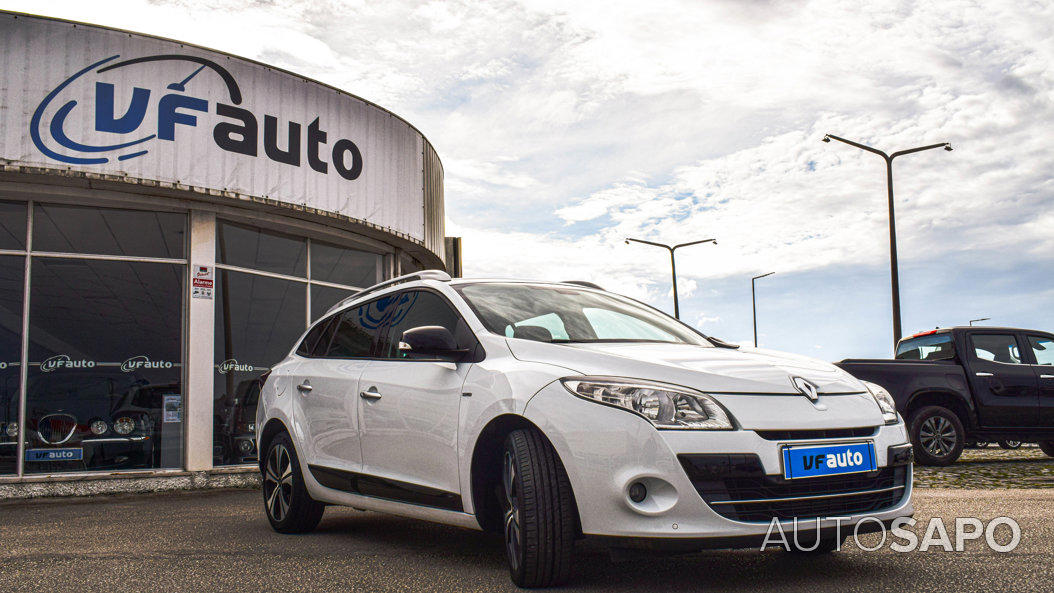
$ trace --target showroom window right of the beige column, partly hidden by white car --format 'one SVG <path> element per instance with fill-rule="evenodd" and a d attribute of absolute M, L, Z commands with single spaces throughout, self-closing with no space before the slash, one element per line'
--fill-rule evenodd
<path fill-rule="evenodd" d="M 310 321 L 385 277 L 385 256 L 216 221 L 213 463 L 256 461 L 256 403 Z"/>

